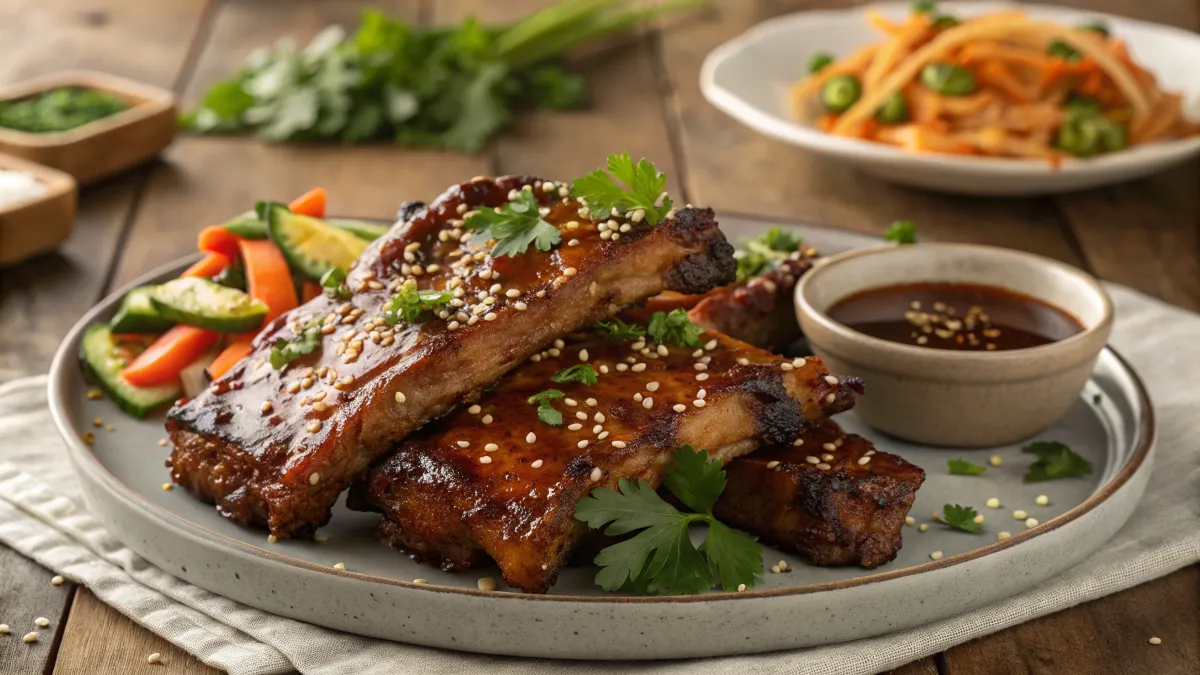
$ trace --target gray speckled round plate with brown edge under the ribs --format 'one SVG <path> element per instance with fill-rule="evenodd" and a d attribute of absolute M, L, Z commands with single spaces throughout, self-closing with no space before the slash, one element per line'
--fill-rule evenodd
<path fill-rule="evenodd" d="M 762 221 L 725 215 L 731 239 L 754 235 Z M 797 226 L 824 252 L 876 240 L 841 231 Z M 173 263 L 134 282 L 178 274 Z M 131 285 L 130 287 L 132 287 Z M 1079 404 L 1039 437 L 1069 444 L 1090 459 L 1087 478 L 1026 485 L 1028 455 L 1016 446 L 947 450 L 907 444 L 865 429 L 853 416 L 839 419 L 925 468 L 928 479 L 912 515 L 929 522 L 947 502 L 974 506 L 984 531 L 967 534 L 932 524 L 926 532 L 905 528 L 905 546 L 874 571 L 818 568 L 797 556 L 767 549 L 768 567 L 786 560 L 788 573 L 767 573 L 752 591 L 696 597 L 640 598 L 604 593 L 595 571 L 566 571 L 547 596 L 480 592 L 480 577 L 440 572 L 413 562 L 372 537 L 376 518 L 338 506 L 322 530 L 325 543 L 269 544 L 266 533 L 234 525 L 169 480 L 169 448 L 162 419 L 138 422 L 107 400 L 85 398 L 88 384 L 76 363 L 83 328 L 107 319 L 126 291 L 104 299 L 64 341 L 50 377 L 50 405 L 94 512 L 132 549 L 160 567 L 239 602 L 322 626 L 421 645 L 488 653 L 558 658 L 682 658 L 803 647 L 877 635 L 919 626 L 1020 592 L 1078 563 L 1103 545 L 1133 512 L 1150 476 L 1153 412 L 1136 375 L 1112 351 L 1099 359 Z M 868 383 L 869 384 L 869 383 Z M 1093 396 L 1100 394 L 1099 405 Z M 94 418 L 115 428 L 80 436 Z M 982 477 L 948 476 L 946 460 L 986 464 L 1003 459 Z M 1038 495 L 1049 506 L 1036 506 Z M 997 497 L 1002 507 L 985 502 Z M 1040 525 L 1026 530 L 1013 518 L 1024 509 Z M 1013 537 L 997 542 L 997 533 Z M 943 557 L 930 558 L 940 550 Z M 334 568 L 342 562 L 346 571 Z M 414 585 L 415 578 L 428 580 Z M 678 628 L 679 631 L 673 631 Z M 678 634 L 686 629 L 688 639 Z"/>

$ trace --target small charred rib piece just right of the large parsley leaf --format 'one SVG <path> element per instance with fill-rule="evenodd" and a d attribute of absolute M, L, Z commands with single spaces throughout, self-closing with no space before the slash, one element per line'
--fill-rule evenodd
<path fill-rule="evenodd" d="M 730 462 L 716 516 L 812 565 L 892 561 L 925 472 L 833 422 L 798 442 Z"/>

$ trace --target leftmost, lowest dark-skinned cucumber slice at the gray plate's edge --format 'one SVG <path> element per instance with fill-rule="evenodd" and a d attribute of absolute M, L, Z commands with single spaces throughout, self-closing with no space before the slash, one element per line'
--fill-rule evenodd
<path fill-rule="evenodd" d="M 79 345 L 79 362 L 101 390 L 122 411 L 143 418 L 155 408 L 179 399 L 184 390 L 178 384 L 166 387 L 134 387 L 121 377 L 121 370 L 137 356 L 130 344 L 113 341 L 113 331 L 102 323 L 88 327 Z"/>

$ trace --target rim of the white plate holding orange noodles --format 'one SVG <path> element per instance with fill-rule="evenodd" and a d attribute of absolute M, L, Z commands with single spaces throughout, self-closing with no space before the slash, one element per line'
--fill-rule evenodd
<path fill-rule="evenodd" d="M 1087 161 L 1067 160 L 1060 167 L 1051 167 L 1044 160 L 1036 159 L 1007 159 L 1007 157 L 977 157 L 946 154 L 912 154 L 905 153 L 890 145 L 872 143 L 857 138 L 842 138 L 823 133 L 811 126 L 799 124 L 794 120 L 781 121 L 775 115 L 750 103 L 745 98 L 733 94 L 722 84 L 718 84 L 715 72 L 719 66 L 736 58 L 740 52 L 758 41 L 767 34 L 786 31 L 793 24 L 806 24 L 822 18 L 862 17 L 863 12 L 870 8 L 883 11 L 907 7 L 905 1 L 871 2 L 842 10 L 810 10 L 798 11 L 788 14 L 774 17 L 760 22 L 744 32 L 722 42 L 704 56 L 700 70 L 700 89 L 704 98 L 721 112 L 728 114 L 739 123 L 767 135 L 778 141 L 787 142 L 792 145 L 805 148 L 812 151 L 823 153 L 830 156 L 841 157 L 850 161 L 878 161 L 908 166 L 920 166 L 928 169 L 956 169 L 968 171 L 976 175 L 1003 175 L 1010 178 L 1036 178 L 1036 177 L 1070 177 L 1070 178 L 1103 178 L 1110 172 L 1147 169 L 1158 166 L 1166 166 L 1172 162 L 1186 160 L 1188 156 L 1200 151 L 1200 136 L 1192 138 L 1176 138 L 1168 142 L 1152 143 L 1136 149 L 1128 149 L 1111 155 L 1092 157 Z M 1027 11 L 1055 11 L 1074 12 L 1081 17 L 1106 19 L 1135 24 L 1139 28 L 1153 29 L 1177 34 L 1181 37 L 1200 40 L 1194 34 L 1165 24 L 1146 22 L 1109 12 L 1091 12 L 1075 7 L 1039 5 L 1025 2 L 1007 2 L 1003 0 L 985 0 L 982 2 L 958 2 L 946 4 L 949 8 L 979 7 L 988 8 L 1022 8 Z M 1200 44 L 1200 42 L 1198 42 Z"/>

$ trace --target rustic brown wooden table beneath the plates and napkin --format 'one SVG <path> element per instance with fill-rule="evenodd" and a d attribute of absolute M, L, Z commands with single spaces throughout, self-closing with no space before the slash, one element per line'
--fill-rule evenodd
<path fill-rule="evenodd" d="M 550 0 L 370 2 L 420 23 L 470 13 L 505 20 Z M 366 5 L 367 2 L 364 2 Z M 648 156 L 671 190 L 722 210 L 881 233 L 913 219 L 926 240 L 1034 251 L 1193 310 L 1200 309 L 1200 165 L 1106 190 L 1033 199 L 916 192 L 772 142 L 701 97 L 704 55 L 770 16 L 839 0 L 719 0 L 714 10 L 581 65 L 594 104 L 523 117 L 486 151 L 452 155 L 390 147 L 271 147 L 241 138 L 180 138 L 161 162 L 84 191 L 74 238 L 59 253 L 0 271 L 0 382 L 44 372 L 72 323 L 109 289 L 191 252 L 196 233 L 256 199 L 323 185 L 331 209 L 388 216 L 476 174 L 581 175 L 608 153 Z M 1195 0 L 1062 4 L 1200 29 Z M 173 88 L 186 103 L 256 46 L 354 25 L 358 2 L 334 0 L 0 0 L 0 83 L 89 67 Z M 136 626 L 86 589 L 0 546 L 0 673 L 214 673 Z M 906 675 L 1195 673 L 1200 567 L 1009 628 L 924 658 Z M 50 620 L 34 645 L 20 635 Z M 53 634 L 53 639 L 49 637 Z M 1147 644 L 1158 635 L 1159 646 Z M 163 665 L 146 665 L 162 652 Z"/>

